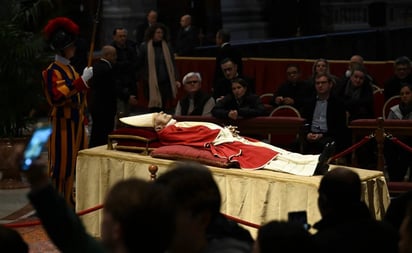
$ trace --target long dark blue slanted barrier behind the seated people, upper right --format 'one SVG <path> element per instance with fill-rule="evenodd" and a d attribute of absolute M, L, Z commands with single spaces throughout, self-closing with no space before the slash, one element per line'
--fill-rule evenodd
<path fill-rule="evenodd" d="M 412 27 L 368 29 L 365 31 L 328 33 L 284 39 L 232 43 L 244 57 L 262 58 L 327 58 L 346 60 L 360 54 L 366 60 L 394 60 L 412 56 Z M 216 47 L 199 47 L 197 56 L 213 56 Z"/>

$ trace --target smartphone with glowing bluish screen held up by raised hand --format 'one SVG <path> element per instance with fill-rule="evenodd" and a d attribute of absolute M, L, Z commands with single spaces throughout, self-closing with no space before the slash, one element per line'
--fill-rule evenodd
<path fill-rule="evenodd" d="M 23 171 L 28 170 L 33 161 L 39 158 L 51 133 L 52 127 L 49 124 L 36 127 L 24 150 L 21 167 Z"/>

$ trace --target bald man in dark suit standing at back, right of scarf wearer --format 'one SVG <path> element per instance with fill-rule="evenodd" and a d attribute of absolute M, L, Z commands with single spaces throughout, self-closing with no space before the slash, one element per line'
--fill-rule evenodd
<path fill-rule="evenodd" d="M 176 56 L 192 56 L 199 44 L 199 30 L 192 25 L 192 17 L 189 14 L 183 15 L 176 37 Z"/>

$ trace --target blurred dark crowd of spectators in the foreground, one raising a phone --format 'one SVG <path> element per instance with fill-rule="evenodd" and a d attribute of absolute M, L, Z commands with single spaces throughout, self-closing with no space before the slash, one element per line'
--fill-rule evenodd
<path fill-rule="evenodd" d="M 15 146 L 9 166 L 20 166 L 24 146 Z M 318 188 L 321 219 L 314 224 L 270 220 L 257 237 L 221 213 L 222 197 L 204 165 L 177 162 L 155 181 L 120 180 L 108 191 L 101 238 L 87 233 L 80 218 L 53 187 L 40 157 L 25 172 L 30 203 L 61 252 L 382 252 L 411 250 L 411 193 L 391 202 L 382 220 L 362 200 L 356 170 L 335 167 Z M 312 225 L 312 226 L 311 226 Z M 311 228 L 312 227 L 312 228 Z M 29 252 L 21 235 L 0 226 L 0 247 Z M 4 248 L 7 247 L 7 248 Z M 14 250 L 14 251 L 13 251 Z"/>

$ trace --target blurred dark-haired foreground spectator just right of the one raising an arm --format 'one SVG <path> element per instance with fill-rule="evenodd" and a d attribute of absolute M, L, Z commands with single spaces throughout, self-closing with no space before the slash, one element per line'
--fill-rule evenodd
<path fill-rule="evenodd" d="M 177 226 L 171 253 L 250 253 L 250 233 L 220 213 L 221 196 L 210 170 L 198 163 L 176 163 L 156 184 L 172 189 Z"/>

